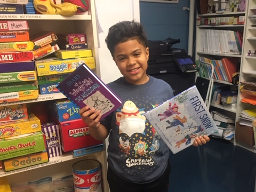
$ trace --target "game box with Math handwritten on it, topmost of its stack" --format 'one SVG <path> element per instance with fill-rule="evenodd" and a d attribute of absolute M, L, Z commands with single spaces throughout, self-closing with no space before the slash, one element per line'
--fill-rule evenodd
<path fill-rule="evenodd" d="M 0 21 L 0 31 L 19 31 L 19 30 L 29 30 L 28 22 L 27 21 Z"/>

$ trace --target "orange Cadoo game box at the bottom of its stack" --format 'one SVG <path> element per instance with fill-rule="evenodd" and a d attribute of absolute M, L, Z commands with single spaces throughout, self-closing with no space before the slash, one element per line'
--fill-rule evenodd
<path fill-rule="evenodd" d="M 49 162 L 47 151 L 14 157 L 3 161 L 4 171 L 13 171 L 25 167 Z"/>

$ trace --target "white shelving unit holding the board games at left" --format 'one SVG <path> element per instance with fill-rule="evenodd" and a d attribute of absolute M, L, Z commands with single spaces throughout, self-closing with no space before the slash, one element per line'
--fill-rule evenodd
<path fill-rule="evenodd" d="M 73 15 L 72 17 L 63 17 L 61 15 L 30 15 L 30 14 L 0 14 L 0 20 L 27 20 L 29 34 L 34 35 L 42 30 L 54 30 L 55 33 L 84 33 L 86 34 L 87 45 L 92 50 L 95 58 L 96 69 L 94 72 L 100 75 L 98 33 L 96 22 L 96 11 L 94 0 L 89 1 L 89 10 L 84 14 Z M 39 95 L 37 99 L 25 100 L 19 102 L 0 103 L 0 106 L 14 105 L 18 103 L 35 103 L 55 99 L 65 98 L 62 93 Z M 0 178 L 6 177 L 9 183 L 23 183 L 52 177 L 57 179 L 71 175 L 73 173 L 72 165 L 77 161 L 84 159 L 97 159 L 101 163 L 102 189 L 109 191 L 107 183 L 107 155 L 106 147 L 102 151 L 81 157 L 73 157 L 71 153 L 63 153 L 61 156 L 49 159 L 48 163 L 27 167 L 10 172 L 0 170 Z M 64 168 L 64 169 L 63 169 Z"/>

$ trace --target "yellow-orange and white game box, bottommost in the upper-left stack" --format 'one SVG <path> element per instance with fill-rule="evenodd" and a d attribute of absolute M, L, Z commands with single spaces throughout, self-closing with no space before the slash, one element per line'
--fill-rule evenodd
<path fill-rule="evenodd" d="M 10 93 L 1 93 L 0 94 L 0 103 L 37 99 L 38 95 L 39 95 L 38 89 L 37 90 L 26 90 L 26 91 L 16 91 L 16 92 L 10 92 Z"/>

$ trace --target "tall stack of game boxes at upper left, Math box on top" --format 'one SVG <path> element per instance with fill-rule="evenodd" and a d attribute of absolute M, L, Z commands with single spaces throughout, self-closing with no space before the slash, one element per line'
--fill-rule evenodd
<path fill-rule="evenodd" d="M 0 103 L 36 99 L 37 76 L 27 21 L 0 21 Z"/>

